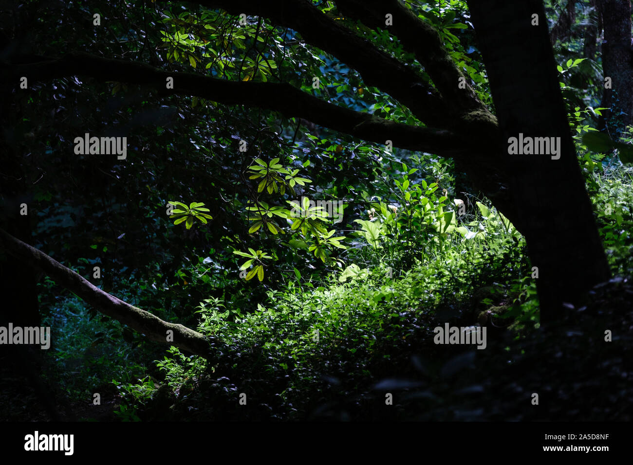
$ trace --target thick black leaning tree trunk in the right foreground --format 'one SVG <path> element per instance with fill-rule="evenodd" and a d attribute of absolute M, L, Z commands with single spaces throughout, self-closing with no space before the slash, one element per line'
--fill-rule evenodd
<path fill-rule="evenodd" d="M 515 207 L 538 268 L 541 322 L 610 276 L 576 158 L 541 0 L 470 0 Z M 532 25 L 533 15 L 538 25 Z M 510 155 L 508 139 L 560 137 L 560 158 Z M 556 139 L 555 139 L 556 140 Z"/>

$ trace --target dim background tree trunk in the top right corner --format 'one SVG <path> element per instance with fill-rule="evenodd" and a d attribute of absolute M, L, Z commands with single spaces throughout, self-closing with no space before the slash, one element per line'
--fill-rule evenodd
<path fill-rule="evenodd" d="M 605 28 L 602 44 L 602 69 L 611 82 L 605 87 L 601 107 L 601 130 L 619 139 L 633 122 L 633 66 L 631 62 L 630 0 L 599 0 Z"/>

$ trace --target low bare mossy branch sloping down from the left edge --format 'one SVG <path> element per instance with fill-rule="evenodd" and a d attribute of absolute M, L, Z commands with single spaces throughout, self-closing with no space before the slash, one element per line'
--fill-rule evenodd
<path fill-rule="evenodd" d="M 20 239 L 16 239 L 1 228 L 0 244 L 3 245 L 6 252 L 44 271 L 59 285 L 74 292 L 101 313 L 118 319 L 121 323 L 146 335 L 151 340 L 167 345 L 175 345 L 180 349 L 203 357 L 210 356 L 211 344 L 217 342 L 186 326 L 163 321 L 158 316 L 104 292 L 75 273 L 75 271 L 66 268 L 44 252 L 35 249 L 35 247 L 25 244 Z M 173 331 L 173 342 L 167 342 L 166 332 L 168 330 Z"/>

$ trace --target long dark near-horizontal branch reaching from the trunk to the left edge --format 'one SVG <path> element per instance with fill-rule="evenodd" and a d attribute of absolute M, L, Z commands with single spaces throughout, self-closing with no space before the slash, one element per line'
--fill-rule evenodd
<path fill-rule="evenodd" d="M 85 53 L 66 54 L 62 58 L 39 57 L 34 63 L 12 63 L 4 66 L 9 75 L 30 80 L 83 75 L 97 80 L 113 80 L 144 84 L 162 94 L 198 96 L 223 104 L 244 104 L 279 111 L 288 117 L 310 120 L 338 132 L 394 147 L 453 156 L 469 144 L 448 130 L 405 125 L 384 120 L 368 113 L 322 101 L 289 84 L 268 82 L 233 82 L 191 73 L 161 71 L 146 63 L 122 61 Z M 172 77 L 174 89 L 165 89 L 166 78 Z"/>

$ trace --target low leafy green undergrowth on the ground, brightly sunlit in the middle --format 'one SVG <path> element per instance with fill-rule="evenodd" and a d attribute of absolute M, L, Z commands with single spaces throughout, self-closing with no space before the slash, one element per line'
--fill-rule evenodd
<path fill-rule="evenodd" d="M 591 177 L 613 273 L 630 274 L 631 170 Z M 223 344 L 210 362 L 172 347 L 155 368 L 139 366 L 132 362 L 139 350 L 150 353 L 141 340 L 66 299 L 49 317 L 65 328 L 55 342 L 61 383 L 85 398 L 101 388 L 99 380 L 115 378 L 115 413 L 123 420 L 321 418 L 344 399 L 355 399 L 357 408 L 370 402 L 372 387 L 389 387 L 385 376 L 406 373 L 412 354 L 434 354 L 439 319 L 474 325 L 492 308 L 510 316 L 514 338 L 538 327 L 523 237 L 485 199 L 460 199 L 470 206 L 460 211 L 460 200 L 436 197 L 433 187 L 423 186 L 418 200 L 427 201 L 417 208 L 373 199 L 344 266 L 320 281 L 295 270 L 251 309 L 232 306 L 230 296 L 204 299 L 197 330 Z M 239 410 L 241 399 L 256 407 Z"/>

